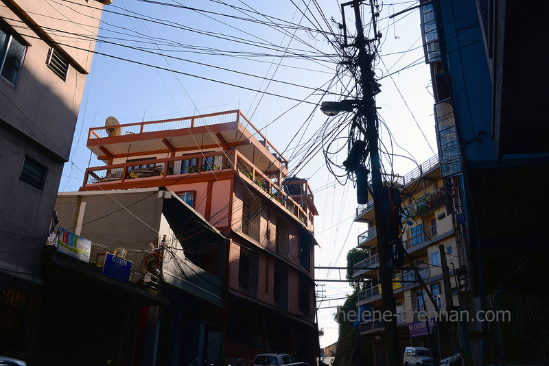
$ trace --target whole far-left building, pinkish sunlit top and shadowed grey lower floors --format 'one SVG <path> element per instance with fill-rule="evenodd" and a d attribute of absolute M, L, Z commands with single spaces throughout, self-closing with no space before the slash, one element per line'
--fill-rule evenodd
<path fill-rule="evenodd" d="M 41 256 L 106 3 L 0 1 L 3 350 L 34 347 L 23 334 L 39 321 Z"/>

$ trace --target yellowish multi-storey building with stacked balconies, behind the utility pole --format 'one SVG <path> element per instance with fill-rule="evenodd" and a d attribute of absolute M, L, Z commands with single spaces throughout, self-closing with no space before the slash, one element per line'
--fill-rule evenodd
<path fill-rule="evenodd" d="M 439 157 L 433 156 L 420 167 L 404 176 L 395 176 L 394 181 L 402 196 L 406 196 L 404 221 L 410 220 L 410 227 L 402 235 L 402 245 L 419 270 L 419 276 L 430 289 L 441 310 L 452 310 L 458 304 L 458 291 L 463 283 L 459 271 L 466 268 L 463 233 L 457 222 L 456 200 L 447 202 L 445 192 L 451 182 L 441 178 Z M 450 197 L 452 197 L 450 195 Z M 355 263 L 354 277 L 366 279 L 366 288 L 358 292 L 357 306 L 369 311 L 373 316 L 360 322 L 362 355 L 366 362 L 375 366 L 386 365 L 384 321 L 381 285 L 379 284 L 379 260 L 377 255 L 377 234 L 373 201 L 358 206 L 355 222 L 368 223 L 369 229 L 358 236 L 358 247 L 369 250 L 369 258 Z M 443 284 L 441 246 L 449 266 L 449 297 Z M 406 262 L 407 263 L 407 262 Z M 439 358 L 454 354 L 451 335 L 435 321 L 436 308 L 417 279 L 410 265 L 393 270 L 393 292 L 395 294 L 397 331 L 399 348 L 409 345 L 428 347 Z M 421 321 L 420 312 L 425 311 L 431 318 L 430 329 Z"/>

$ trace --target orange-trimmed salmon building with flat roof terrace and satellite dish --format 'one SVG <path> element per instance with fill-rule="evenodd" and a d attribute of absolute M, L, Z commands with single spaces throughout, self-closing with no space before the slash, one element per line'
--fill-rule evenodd
<path fill-rule="evenodd" d="M 87 146 L 106 165 L 80 191 L 165 186 L 228 240 L 184 249 L 225 285 L 226 363 L 268 350 L 314 363 L 314 196 L 240 110 L 93 127 Z"/>

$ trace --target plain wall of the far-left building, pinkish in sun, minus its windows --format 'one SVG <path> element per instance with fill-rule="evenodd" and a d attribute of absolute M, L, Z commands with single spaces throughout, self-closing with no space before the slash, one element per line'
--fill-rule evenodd
<path fill-rule="evenodd" d="M 76 65 L 81 70 L 71 66 L 67 80 L 63 81 L 45 64 L 50 48 L 45 38 L 54 38 L 50 29 L 75 32 L 80 29 L 77 24 L 82 23 L 90 26 L 86 34 L 91 40 L 79 40 L 78 45 L 93 49 L 103 6 L 97 1 L 77 1 L 86 6 L 79 6 L 77 10 L 78 5 L 59 5 L 51 0 L 0 1 L 0 18 L 8 24 L 2 26 L 3 29 L 19 34 L 27 45 L 16 86 L 0 77 L 0 205 L 3 208 L 0 262 L 36 274 L 55 208 L 62 165 L 69 159 L 86 80 L 84 69 L 89 70 L 92 59 L 88 51 L 67 49 L 67 54 L 81 63 Z M 76 12 L 80 15 L 75 15 Z M 34 22 L 39 22 L 48 36 L 38 37 L 29 27 Z M 65 34 L 55 37 L 61 42 Z M 48 169 L 42 190 L 19 179 L 25 155 Z"/>

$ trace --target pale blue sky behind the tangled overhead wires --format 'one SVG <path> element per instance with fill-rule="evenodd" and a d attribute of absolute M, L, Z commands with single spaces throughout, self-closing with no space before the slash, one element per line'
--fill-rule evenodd
<path fill-rule="evenodd" d="M 80 6 L 55 1 L 75 11 Z M 315 266 L 344 267 L 347 252 L 367 227 L 353 223 L 358 206 L 353 183 L 340 184 L 323 154 L 327 148 L 332 162 L 341 164 L 347 157 L 347 129 L 331 133 L 340 119 L 318 109 L 320 101 L 338 101 L 355 90 L 340 64 L 341 2 L 113 0 L 104 7 L 60 191 L 78 191 L 86 167 L 103 165 L 86 148 L 86 137 L 109 116 L 133 123 L 240 108 L 283 151 L 290 175 L 309 180 L 319 212 Z M 379 1 L 378 9 L 382 41 L 375 75 L 382 84 L 376 97 L 384 121 L 382 162 L 387 172 L 401 175 L 436 151 L 419 10 L 388 18 L 417 4 Z M 370 7 L 362 6 L 362 12 L 367 25 Z M 352 40 L 352 8 L 346 8 L 345 18 Z M 340 279 L 344 271 L 318 269 L 315 278 Z M 351 289 L 344 282 L 318 281 L 316 290 L 324 347 L 338 338 L 331 306 L 342 304 Z"/>

